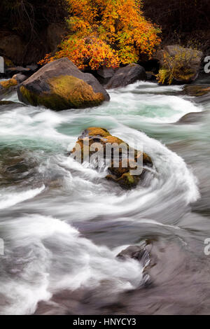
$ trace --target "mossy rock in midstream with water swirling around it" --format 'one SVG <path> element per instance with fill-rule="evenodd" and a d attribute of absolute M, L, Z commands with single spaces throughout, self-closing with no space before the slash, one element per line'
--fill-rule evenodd
<path fill-rule="evenodd" d="M 108 130 L 100 127 L 90 127 L 84 130 L 82 135 L 78 137 L 76 146 L 70 153 L 71 156 L 73 158 L 76 158 L 76 160 L 83 162 L 84 160 L 86 160 L 86 158 L 84 158 L 84 154 L 85 152 L 87 152 L 85 148 L 88 148 L 88 160 L 90 160 L 89 157 L 91 157 L 97 152 L 92 150 L 91 148 L 92 144 L 94 143 L 102 145 L 102 160 L 110 160 L 108 165 L 109 174 L 106 176 L 106 179 L 118 183 L 122 188 L 125 188 L 127 190 L 130 190 L 131 188 L 135 188 L 137 186 L 140 179 L 143 178 L 146 172 L 146 167 L 153 166 L 151 158 L 146 153 L 142 153 L 140 151 L 130 148 L 128 144 L 126 144 L 122 139 L 112 136 Z M 94 146 L 97 146 L 97 144 L 94 144 Z M 111 154 L 109 154 L 109 152 L 107 151 L 107 144 L 110 144 L 113 148 Z M 130 156 L 132 151 L 134 154 L 134 158 L 132 161 L 129 161 L 128 155 Z M 114 162 L 116 160 L 116 158 L 114 158 L 114 154 L 116 154 L 116 152 L 118 152 L 119 154 L 119 161 L 117 166 Z M 124 159 L 126 161 L 124 161 Z M 137 174 L 134 174 L 132 170 L 137 169 L 135 165 L 137 164 L 138 160 L 141 160 L 141 171 Z"/>

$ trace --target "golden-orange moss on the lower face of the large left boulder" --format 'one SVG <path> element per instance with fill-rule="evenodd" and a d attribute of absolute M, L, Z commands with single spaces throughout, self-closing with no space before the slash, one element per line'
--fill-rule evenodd
<path fill-rule="evenodd" d="M 74 76 L 57 76 L 47 80 L 49 91 L 37 94 L 20 86 L 22 98 L 26 104 L 43 105 L 52 110 L 80 109 L 97 106 L 104 101 L 104 95 L 95 93 L 85 81 Z"/>

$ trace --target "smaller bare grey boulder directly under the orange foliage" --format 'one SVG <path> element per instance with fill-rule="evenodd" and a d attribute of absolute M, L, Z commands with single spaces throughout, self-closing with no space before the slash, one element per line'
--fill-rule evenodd
<path fill-rule="evenodd" d="M 125 67 L 120 67 L 107 83 L 106 88 L 125 87 L 134 83 L 137 80 L 146 80 L 146 71 L 139 64 L 129 64 Z"/>

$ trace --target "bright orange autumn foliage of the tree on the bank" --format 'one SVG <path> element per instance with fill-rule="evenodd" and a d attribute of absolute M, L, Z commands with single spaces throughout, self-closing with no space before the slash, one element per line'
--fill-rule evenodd
<path fill-rule="evenodd" d="M 71 35 L 55 56 L 40 64 L 69 57 L 79 69 L 117 67 L 151 57 L 160 43 L 160 29 L 148 22 L 137 0 L 66 0 Z"/>

